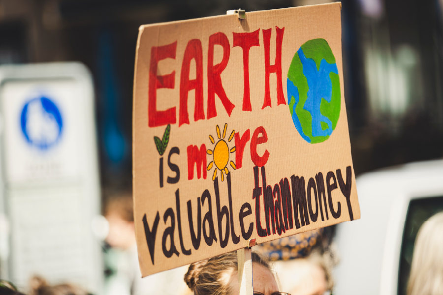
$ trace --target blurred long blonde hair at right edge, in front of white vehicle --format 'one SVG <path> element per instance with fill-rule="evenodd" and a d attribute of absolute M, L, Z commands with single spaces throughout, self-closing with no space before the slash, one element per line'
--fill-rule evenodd
<path fill-rule="evenodd" d="M 408 295 L 443 294 L 443 212 L 418 231 L 412 256 Z"/>

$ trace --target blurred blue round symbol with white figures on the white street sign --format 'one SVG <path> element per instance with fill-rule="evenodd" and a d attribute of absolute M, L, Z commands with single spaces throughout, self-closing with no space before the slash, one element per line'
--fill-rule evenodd
<path fill-rule="evenodd" d="M 28 101 L 20 117 L 23 135 L 30 145 L 46 150 L 62 135 L 62 115 L 56 104 L 47 97 Z"/>

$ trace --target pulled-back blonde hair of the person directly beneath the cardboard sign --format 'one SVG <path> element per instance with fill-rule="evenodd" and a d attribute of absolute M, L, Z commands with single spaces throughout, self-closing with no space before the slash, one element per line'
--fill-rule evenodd
<path fill-rule="evenodd" d="M 271 271 L 267 260 L 260 254 L 252 253 L 253 263 Z M 237 251 L 221 254 L 189 266 L 185 283 L 195 295 L 225 295 L 230 293 L 229 280 L 237 272 Z"/>

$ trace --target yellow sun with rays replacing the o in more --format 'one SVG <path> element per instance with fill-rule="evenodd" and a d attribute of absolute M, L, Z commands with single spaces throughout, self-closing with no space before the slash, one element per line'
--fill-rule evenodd
<path fill-rule="evenodd" d="M 229 170 L 226 167 L 228 163 L 235 170 L 235 163 L 233 161 L 229 161 L 229 152 L 233 153 L 235 151 L 235 147 L 229 149 L 227 143 L 224 141 L 224 137 L 226 136 L 226 128 L 227 128 L 227 123 L 224 124 L 223 134 L 220 134 L 220 128 L 219 125 L 217 125 L 217 137 L 219 138 L 219 141 L 215 145 L 214 150 L 212 149 L 207 150 L 208 155 L 213 155 L 214 159 L 213 161 L 211 161 L 211 163 L 209 163 L 207 168 L 208 171 L 211 170 L 214 164 L 216 165 L 212 180 L 215 180 L 215 178 L 217 177 L 217 169 L 220 170 L 221 172 L 221 181 L 224 180 L 223 172 L 226 175 L 229 173 Z M 234 138 L 234 134 L 235 131 L 232 130 L 231 135 L 229 135 L 228 142 L 231 142 L 231 140 Z M 209 139 L 211 140 L 212 144 L 215 143 L 214 137 L 212 137 L 212 135 L 209 135 Z"/>

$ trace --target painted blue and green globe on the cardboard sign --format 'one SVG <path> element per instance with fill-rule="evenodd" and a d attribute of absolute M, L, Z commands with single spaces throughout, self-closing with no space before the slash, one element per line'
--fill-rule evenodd
<path fill-rule="evenodd" d="M 341 91 L 337 64 L 324 39 L 303 44 L 287 73 L 289 111 L 307 142 L 324 142 L 337 126 Z"/>

